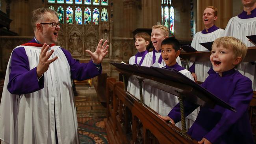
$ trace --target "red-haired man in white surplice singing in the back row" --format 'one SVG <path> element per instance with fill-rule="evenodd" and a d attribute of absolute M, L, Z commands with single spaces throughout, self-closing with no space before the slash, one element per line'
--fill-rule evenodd
<path fill-rule="evenodd" d="M 218 37 L 223 36 L 224 30 L 218 28 L 214 25 L 214 22 L 218 18 L 218 9 L 213 6 L 208 6 L 204 9 L 203 22 L 204 30 L 199 31 L 195 34 L 191 46 L 197 51 L 207 50 L 200 43 L 211 42 Z M 205 81 L 209 74 L 214 74 L 215 72 L 211 68 L 210 62 L 195 62 L 190 63 L 189 71 L 192 73 L 195 81 Z"/>

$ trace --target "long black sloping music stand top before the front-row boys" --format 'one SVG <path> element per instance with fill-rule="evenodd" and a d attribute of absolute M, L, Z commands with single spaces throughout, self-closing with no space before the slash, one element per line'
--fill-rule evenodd
<path fill-rule="evenodd" d="M 157 81 L 163 85 L 169 85 L 171 89 L 175 89 L 174 91 L 177 92 L 172 94 L 176 96 L 186 96 L 185 100 L 202 107 L 213 108 L 215 105 L 219 105 L 231 111 L 236 111 L 234 107 L 219 99 L 217 96 L 213 95 L 211 92 L 195 83 L 195 81 L 187 78 L 175 69 L 125 65 L 121 63 L 110 64 L 115 66 L 121 73 L 132 74 L 148 80 Z M 176 88 L 175 84 L 184 86 L 184 89 L 180 89 L 180 87 Z"/>

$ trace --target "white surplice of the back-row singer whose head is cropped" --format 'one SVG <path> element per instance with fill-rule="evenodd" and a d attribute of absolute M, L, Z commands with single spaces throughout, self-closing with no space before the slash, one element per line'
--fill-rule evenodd
<path fill-rule="evenodd" d="M 224 36 L 232 36 L 240 39 L 248 47 L 254 46 L 252 42 L 248 41 L 246 36 L 256 35 L 256 17 L 242 19 L 239 17 L 232 17 L 228 21 Z M 244 76 L 247 76 L 252 81 L 252 89 L 256 90 L 256 65 L 252 65 L 250 62 L 242 62 L 237 70 Z"/>

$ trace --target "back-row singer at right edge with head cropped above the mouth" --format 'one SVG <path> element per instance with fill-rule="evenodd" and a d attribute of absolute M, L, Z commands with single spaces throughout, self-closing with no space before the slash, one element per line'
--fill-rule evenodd
<path fill-rule="evenodd" d="M 254 46 L 246 36 L 256 35 L 256 0 L 241 0 L 243 12 L 230 18 L 224 36 L 232 36 L 240 39 L 248 47 Z M 254 62 L 243 62 L 238 68 L 239 72 L 252 80 L 252 89 L 256 90 L 256 65 Z"/>

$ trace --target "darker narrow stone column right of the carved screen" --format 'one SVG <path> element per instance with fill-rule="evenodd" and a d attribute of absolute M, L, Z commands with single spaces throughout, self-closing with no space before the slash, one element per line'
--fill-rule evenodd
<path fill-rule="evenodd" d="M 133 37 L 132 31 L 136 28 L 135 0 L 123 0 L 123 36 Z"/>

